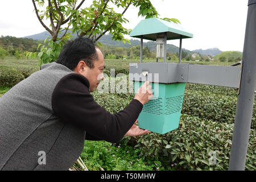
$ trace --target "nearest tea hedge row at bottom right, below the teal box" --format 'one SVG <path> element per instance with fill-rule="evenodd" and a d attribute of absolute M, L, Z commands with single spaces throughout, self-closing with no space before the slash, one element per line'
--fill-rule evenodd
<path fill-rule="evenodd" d="M 179 128 L 167 134 L 126 137 L 121 143 L 141 151 L 141 158 L 162 158 L 164 165 L 186 170 L 228 170 L 232 123 L 219 123 L 181 114 Z M 216 163 L 211 159 L 216 155 Z M 255 133 L 250 132 L 246 169 L 255 170 Z M 213 162 L 213 163 L 211 163 Z"/>

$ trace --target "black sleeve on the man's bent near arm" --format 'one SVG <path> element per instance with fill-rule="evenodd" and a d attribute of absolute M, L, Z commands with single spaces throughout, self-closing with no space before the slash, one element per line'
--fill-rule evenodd
<path fill-rule="evenodd" d="M 87 78 L 77 73 L 61 78 L 52 93 L 52 109 L 58 117 L 96 139 L 112 143 L 121 140 L 133 126 L 142 107 L 141 102 L 132 100 L 118 113 L 109 113 L 94 101 Z"/>

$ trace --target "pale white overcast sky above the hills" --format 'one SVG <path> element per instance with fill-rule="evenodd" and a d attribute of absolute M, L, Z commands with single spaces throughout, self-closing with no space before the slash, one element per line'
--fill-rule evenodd
<path fill-rule="evenodd" d="M 84 2 L 90 5 L 91 0 Z M 247 17 L 247 0 L 151 0 L 160 18 L 176 18 L 181 26 L 193 34 L 183 40 L 183 48 L 221 51 L 243 51 Z M 0 3 L 0 36 L 23 37 L 45 31 L 39 23 L 31 0 L 8 0 Z M 131 7 L 125 13 L 133 29 L 140 20 L 138 9 Z M 46 23 L 48 24 L 48 23 Z M 129 38 L 129 37 L 128 37 Z M 168 40 L 179 46 L 179 40 Z"/>

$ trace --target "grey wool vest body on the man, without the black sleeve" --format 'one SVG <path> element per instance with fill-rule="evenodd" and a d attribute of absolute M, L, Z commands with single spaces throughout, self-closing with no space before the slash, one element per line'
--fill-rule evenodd
<path fill-rule="evenodd" d="M 52 110 L 53 90 L 70 73 L 44 64 L 0 97 L 0 170 L 68 170 L 79 158 L 85 131 Z"/>

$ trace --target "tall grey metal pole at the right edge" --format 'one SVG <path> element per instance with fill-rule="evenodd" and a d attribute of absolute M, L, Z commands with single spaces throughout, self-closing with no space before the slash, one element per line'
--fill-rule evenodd
<path fill-rule="evenodd" d="M 248 1 L 240 90 L 232 138 L 229 170 L 245 170 L 256 83 L 256 0 Z"/>

